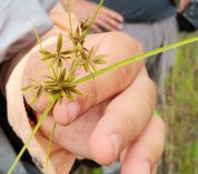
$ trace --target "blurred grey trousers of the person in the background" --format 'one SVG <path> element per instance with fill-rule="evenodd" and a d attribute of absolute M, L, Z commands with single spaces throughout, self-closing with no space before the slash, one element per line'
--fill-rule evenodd
<path fill-rule="evenodd" d="M 170 44 L 178 39 L 178 27 L 175 16 L 154 23 L 127 23 L 125 24 L 123 32 L 138 39 L 142 43 L 145 51 Z M 170 50 L 146 60 L 149 75 L 158 85 L 159 106 L 166 100 L 165 78 L 175 62 L 175 53 L 176 50 Z"/>

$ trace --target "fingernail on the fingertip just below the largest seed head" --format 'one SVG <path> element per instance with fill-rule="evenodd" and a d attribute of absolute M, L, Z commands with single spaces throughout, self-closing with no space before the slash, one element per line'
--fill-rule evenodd
<path fill-rule="evenodd" d="M 73 122 L 80 113 L 80 105 L 76 102 L 71 102 L 68 104 L 68 116 L 69 122 Z"/>

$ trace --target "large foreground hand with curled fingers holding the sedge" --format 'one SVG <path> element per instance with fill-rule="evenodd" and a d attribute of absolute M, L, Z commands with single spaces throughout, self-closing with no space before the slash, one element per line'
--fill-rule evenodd
<path fill-rule="evenodd" d="M 97 53 L 108 53 L 109 63 L 141 52 L 139 43 L 122 33 L 90 35 L 86 47 L 97 43 Z M 24 81 L 46 73 L 38 54 L 32 57 Z M 162 152 L 164 123 L 151 119 L 156 92 L 142 62 L 108 72 L 81 84 L 79 90 L 83 96 L 77 96 L 75 103 L 65 100 L 55 105 L 41 126 L 43 135 L 49 137 L 57 122 L 61 125 L 56 130 L 55 142 L 60 146 L 100 164 L 120 158 L 122 174 L 140 174 L 143 170 L 150 173 Z M 42 96 L 34 106 L 38 117 L 47 103 Z"/>

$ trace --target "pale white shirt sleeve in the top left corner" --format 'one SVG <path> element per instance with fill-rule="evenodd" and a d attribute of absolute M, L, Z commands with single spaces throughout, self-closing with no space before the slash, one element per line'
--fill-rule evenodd
<path fill-rule="evenodd" d="M 0 63 L 52 28 L 48 11 L 58 0 L 0 0 Z"/>

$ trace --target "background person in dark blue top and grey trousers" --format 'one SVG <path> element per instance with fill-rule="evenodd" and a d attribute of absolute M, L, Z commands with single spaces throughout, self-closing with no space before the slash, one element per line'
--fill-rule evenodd
<path fill-rule="evenodd" d="M 67 9 L 66 1 L 65 7 Z M 71 11 L 79 20 L 90 19 L 100 0 L 71 0 Z M 180 0 L 177 8 L 171 0 L 105 0 L 92 31 L 123 31 L 138 39 L 143 51 L 154 50 L 176 42 L 178 39 L 177 12 L 188 6 Z M 165 103 L 165 76 L 175 60 L 175 50 L 147 60 L 147 70 L 159 89 L 159 106 Z"/>

